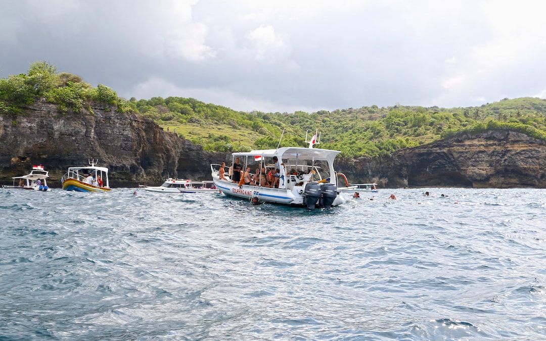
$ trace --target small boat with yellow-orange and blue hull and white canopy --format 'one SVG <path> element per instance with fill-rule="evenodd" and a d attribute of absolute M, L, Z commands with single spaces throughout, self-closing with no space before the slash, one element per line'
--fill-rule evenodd
<path fill-rule="evenodd" d="M 97 166 L 98 160 L 88 161 L 88 166 L 68 167 L 61 178 L 64 190 L 75 192 L 110 192 L 108 168 Z"/>

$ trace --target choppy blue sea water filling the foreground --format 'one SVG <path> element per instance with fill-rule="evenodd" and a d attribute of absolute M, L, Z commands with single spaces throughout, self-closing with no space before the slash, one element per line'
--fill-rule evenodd
<path fill-rule="evenodd" d="M 0 340 L 546 338 L 545 190 L 133 192 L 0 189 Z"/>

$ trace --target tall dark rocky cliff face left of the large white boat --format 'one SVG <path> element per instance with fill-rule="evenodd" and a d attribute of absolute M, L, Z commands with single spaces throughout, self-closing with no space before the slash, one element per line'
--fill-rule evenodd
<path fill-rule="evenodd" d="M 91 158 L 109 167 L 112 187 L 161 184 L 168 175 L 208 180 L 210 163 L 227 158 L 109 105 L 63 114 L 39 100 L 23 113 L 0 116 L 0 183 L 11 183 L 12 176 L 42 164 L 50 171 L 50 186 L 59 187 L 69 166 L 85 166 Z"/>

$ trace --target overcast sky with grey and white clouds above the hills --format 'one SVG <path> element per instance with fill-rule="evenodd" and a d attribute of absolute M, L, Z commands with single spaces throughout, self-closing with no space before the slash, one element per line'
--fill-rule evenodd
<path fill-rule="evenodd" d="M 34 61 L 125 98 L 235 110 L 546 97 L 546 2 L 0 0 L 0 77 Z"/>

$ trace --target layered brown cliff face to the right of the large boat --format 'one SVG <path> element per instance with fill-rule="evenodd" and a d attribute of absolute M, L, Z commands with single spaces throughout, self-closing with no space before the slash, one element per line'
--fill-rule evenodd
<path fill-rule="evenodd" d="M 525 134 L 494 130 L 458 135 L 384 158 L 342 160 L 349 181 L 383 187 L 546 188 L 546 144 Z"/>

